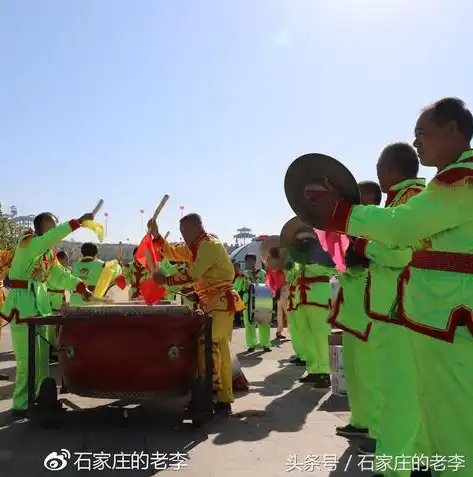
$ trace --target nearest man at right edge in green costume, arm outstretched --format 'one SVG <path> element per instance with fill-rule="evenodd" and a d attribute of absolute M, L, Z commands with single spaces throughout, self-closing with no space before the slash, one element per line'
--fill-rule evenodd
<path fill-rule="evenodd" d="M 442 476 L 471 476 L 473 419 L 473 115 L 444 98 L 425 108 L 415 126 L 421 164 L 437 168 L 427 188 L 406 204 L 353 206 L 328 184 L 312 200 L 325 228 L 393 247 L 412 247 L 402 272 L 393 319 L 408 328 L 416 366 L 416 402 L 427 431 L 425 449 L 455 457 Z M 403 359 L 399 356 L 399 359 Z M 466 410 L 466 411 L 465 411 Z M 411 454 L 412 455 L 412 454 Z M 394 456 L 395 457 L 395 456 Z M 382 472 L 378 475 L 382 475 Z"/>

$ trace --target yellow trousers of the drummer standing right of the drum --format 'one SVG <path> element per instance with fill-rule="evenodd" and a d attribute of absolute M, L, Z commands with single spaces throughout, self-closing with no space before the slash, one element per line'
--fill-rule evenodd
<path fill-rule="evenodd" d="M 217 402 L 232 403 L 233 377 L 230 342 L 233 333 L 233 311 L 211 311 L 212 316 L 212 356 L 214 362 L 213 385 L 217 391 Z M 205 369 L 204 343 L 199 347 L 199 372 Z"/>

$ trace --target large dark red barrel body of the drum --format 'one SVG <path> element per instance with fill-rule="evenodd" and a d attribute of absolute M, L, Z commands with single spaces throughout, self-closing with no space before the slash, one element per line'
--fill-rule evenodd
<path fill-rule="evenodd" d="M 205 316 L 185 306 L 90 306 L 65 312 L 60 363 L 71 393 L 118 398 L 189 391 Z"/>

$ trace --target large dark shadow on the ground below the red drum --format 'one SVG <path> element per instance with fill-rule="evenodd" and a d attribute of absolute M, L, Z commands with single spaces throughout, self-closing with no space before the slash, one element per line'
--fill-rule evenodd
<path fill-rule="evenodd" d="M 182 422 L 178 413 L 158 413 L 136 407 L 102 406 L 66 412 L 57 427 L 37 422 L 12 422 L 0 415 L 0 475 L 51 475 L 44 460 L 59 453 L 57 465 L 67 459 L 61 476 L 100 475 L 151 477 L 157 472 L 180 470 L 190 465 L 188 453 L 207 439 L 202 430 Z M 66 462 L 66 461 L 65 461 Z"/>

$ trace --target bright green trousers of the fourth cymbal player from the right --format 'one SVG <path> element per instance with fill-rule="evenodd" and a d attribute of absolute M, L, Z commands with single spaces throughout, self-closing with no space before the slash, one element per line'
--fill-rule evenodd
<path fill-rule="evenodd" d="M 299 305 L 297 312 L 307 373 L 330 374 L 328 336 L 332 327 L 327 322 L 328 310 L 318 306 Z"/>

